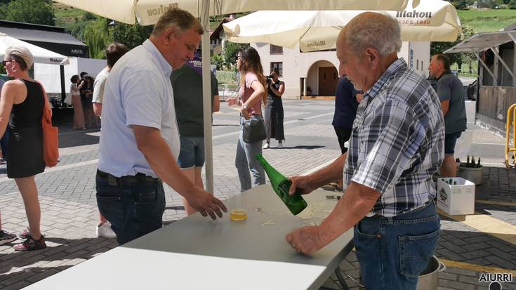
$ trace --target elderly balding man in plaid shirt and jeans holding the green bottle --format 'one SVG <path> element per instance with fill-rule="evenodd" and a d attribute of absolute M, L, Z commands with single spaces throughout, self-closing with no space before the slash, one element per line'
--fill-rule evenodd
<path fill-rule="evenodd" d="M 443 159 L 444 119 L 428 81 L 397 57 L 397 20 L 366 12 L 340 32 L 340 75 L 364 91 L 350 149 L 309 176 L 294 176 L 307 194 L 343 177 L 345 191 L 321 225 L 298 228 L 286 241 L 313 253 L 354 227 L 366 289 L 416 289 L 439 237 L 432 175 Z"/>

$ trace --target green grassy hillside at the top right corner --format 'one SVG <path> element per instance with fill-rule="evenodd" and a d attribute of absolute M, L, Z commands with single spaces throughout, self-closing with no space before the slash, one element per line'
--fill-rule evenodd
<path fill-rule="evenodd" d="M 461 24 L 473 27 L 475 32 L 498 31 L 516 22 L 516 10 L 510 9 L 459 10 L 457 13 Z"/>

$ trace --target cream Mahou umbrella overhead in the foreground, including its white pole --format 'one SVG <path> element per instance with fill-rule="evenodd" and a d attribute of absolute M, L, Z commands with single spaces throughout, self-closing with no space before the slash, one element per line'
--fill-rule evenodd
<path fill-rule="evenodd" d="M 157 22 L 168 8 L 178 7 L 201 18 L 204 31 L 209 32 L 209 15 L 267 10 L 402 10 L 409 0 L 54 0 L 68 6 L 124 22 L 150 25 Z M 413 0 L 416 7 L 419 0 Z M 202 38 L 203 103 L 211 104 L 210 93 L 210 40 L 209 33 Z M 211 138 L 211 106 L 204 105 L 204 139 L 206 159 L 206 190 L 213 192 L 213 144 Z"/>

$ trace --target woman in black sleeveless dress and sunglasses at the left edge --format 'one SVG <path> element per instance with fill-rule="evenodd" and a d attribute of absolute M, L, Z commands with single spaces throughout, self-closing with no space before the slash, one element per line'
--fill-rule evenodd
<path fill-rule="evenodd" d="M 6 81 L 0 97 L 0 135 L 9 130 L 7 176 L 14 178 L 20 190 L 29 228 L 20 234 L 25 238 L 15 251 L 44 249 L 41 235 L 38 189 L 34 176 L 45 169 L 41 119 L 45 102 L 43 87 L 29 77 L 32 53 L 24 46 L 6 49 L 2 64 L 12 81 Z"/>

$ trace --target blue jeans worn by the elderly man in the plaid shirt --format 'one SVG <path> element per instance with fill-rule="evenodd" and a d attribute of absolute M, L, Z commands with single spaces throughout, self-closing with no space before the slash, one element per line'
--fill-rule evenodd
<path fill-rule="evenodd" d="M 439 228 L 433 201 L 393 218 L 362 219 L 353 242 L 366 289 L 416 289 L 437 247 Z"/>

